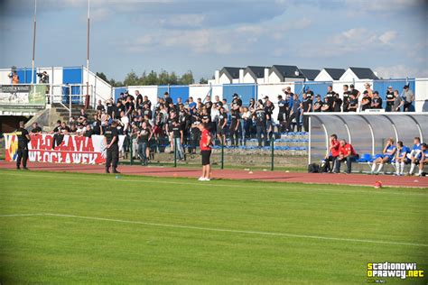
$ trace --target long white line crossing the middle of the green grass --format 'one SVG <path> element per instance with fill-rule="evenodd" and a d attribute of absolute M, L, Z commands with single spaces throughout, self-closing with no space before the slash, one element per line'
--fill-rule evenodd
<path fill-rule="evenodd" d="M 341 238 L 341 237 L 306 235 L 306 234 L 284 234 L 284 233 L 272 233 L 272 232 L 258 232 L 258 231 L 234 230 L 234 229 L 226 229 L 226 228 L 202 227 L 202 226 L 194 226 L 194 225 L 159 224 L 159 223 L 129 221 L 129 220 L 114 219 L 114 218 L 107 218 L 107 217 L 97 217 L 97 216 L 75 216 L 75 215 L 51 214 L 51 213 L 0 215 L 0 217 L 5 217 L 5 216 L 59 216 L 59 217 L 87 219 L 87 220 L 93 220 L 93 221 L 105 221 L 105 222 L 115 222 L 115 223 L 134 224 L 134 225 L 152 225 L 152 226 L 160 226 L 160 227 L 183 228 L 183 229 L 209 231 L 209 232 L 222 232 L 222 233 L 234 233 L 234 234 L 258 234 L 258 235 L 272 235 L 272 236 L 284 236 L 284 237 L 298 237 L 298 238 L 327 240 L 327 241 L 340 241 L 340 242 L 350 242 L 350 243 L 395 244 L 395 245 L 411 245 L 411 246 L 428 247 L 428 244 L 413 244 L 413 243 L 400 243 L 400 242 L 388 242 L 388 241 L 375 241 L 375 240 L 363 240 L 363 239 L 355 239 L 355 238 Z"/>

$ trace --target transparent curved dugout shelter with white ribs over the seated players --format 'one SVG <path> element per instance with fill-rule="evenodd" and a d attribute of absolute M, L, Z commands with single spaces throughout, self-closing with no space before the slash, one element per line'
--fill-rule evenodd
<path fill-rule="evenodd" d="M 309 116 L 309 164 L 320 162 L 328 154 L 332 133 L 351 143 L 359 154 L 358 164 L 365 165 L 382 153 L 389 137 L 411 148 L 414 137 L 425 142 L 428 135 L 428 115 L 423 113 L 311 113 Z"/>

